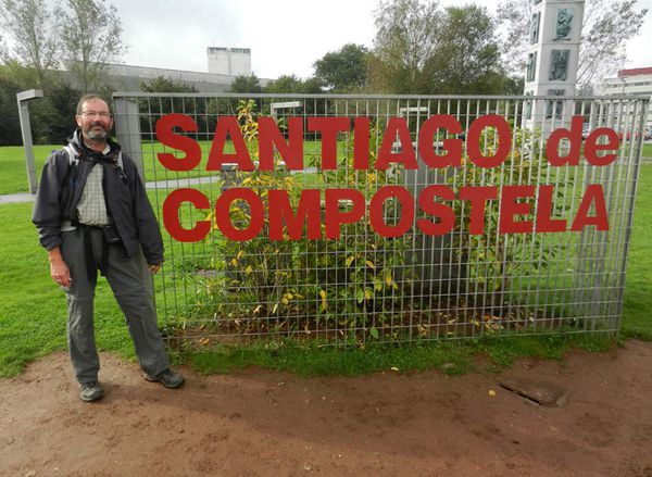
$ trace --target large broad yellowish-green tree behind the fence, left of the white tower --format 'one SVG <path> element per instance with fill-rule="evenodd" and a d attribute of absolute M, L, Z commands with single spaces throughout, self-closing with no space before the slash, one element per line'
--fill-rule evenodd
<path fill-rule="evenodd" d="M 375 90 L 393 93 L 503 93 L 496 24 L 477 5 L 441 9 L 436 1 L 391 0 L 376 15 Z"/>

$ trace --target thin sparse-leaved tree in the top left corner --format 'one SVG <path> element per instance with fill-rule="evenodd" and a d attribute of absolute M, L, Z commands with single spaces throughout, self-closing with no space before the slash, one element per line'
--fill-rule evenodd
<path fill-rule="evenodd" d="M 59 64 L 58 15 L 46 0 L 1 0 L 0 25 L 13 39 L 13 47 L 4 48 L 4 61 L 33 68 L 35 86 L 41 87 L 47 71 Z"/>

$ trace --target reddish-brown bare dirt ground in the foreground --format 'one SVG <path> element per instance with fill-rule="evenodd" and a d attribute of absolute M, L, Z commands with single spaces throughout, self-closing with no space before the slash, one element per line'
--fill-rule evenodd
<path fill-rule="evenodd" d="M 166 390 L 102 355 L 78 399 L 67 356 L 0 380 L 2 476 L 652 476 L 652 343 L 496 373 L 301 378 L 249 369 Z M 500 376 L 569 390 L 536 406 Z"/>

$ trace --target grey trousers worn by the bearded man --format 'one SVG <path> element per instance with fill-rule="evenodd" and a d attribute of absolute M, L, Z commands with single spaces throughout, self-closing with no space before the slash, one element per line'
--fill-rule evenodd
<path fill-rule="evenodd" d="M 99 230 L 93 230 L 93 233 Z M 95 261 L 85 253 L 84 235 L 79 228 L 62 233 L 61 254 L 71 271 L 71 287 L 62 287 L 67 299 L 67 343 L 75 377 L 79 382 L 98 380 L 100 359 L 95 341 L 93 299 L 98 281 Z M 98 239 L 98 237 L 93 237 Z M 101 239 L 99 239 L 102 242 Z M 97 240 L 96 240 L 97 241 Z M 151 292 L 151 277 L 142 254 L 127 258 L 122 244 L 106 244 L 105 277 L 123 311 L 136 354 L 142 369 L 155 376 L 168 367 L 165 346 L 156 325 L 156 311 Z M 92 260 L 92 259 L 91 259 Z"/>

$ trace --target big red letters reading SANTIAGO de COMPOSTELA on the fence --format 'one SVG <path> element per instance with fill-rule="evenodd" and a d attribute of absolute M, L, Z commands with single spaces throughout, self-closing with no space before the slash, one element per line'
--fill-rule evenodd
<path fill-rule="evenodd" d="M 569 128 L 557 128 L 548 137 L 546 155 L 552 166 L 577 166 L 580 155 L 593 166 L 606 166 L 615 161 L 619 145 L 617 134 L 606 127 L 594 129 L 586 140 L 581 137 L 582 117 L 573 116 Z M 485 129 L 494 128 L 498 148 L 492 155 L 484 155 L 480 149 L 480 136 Z M 158 153 L 158 159 L 170 171 L 190 171 L 201 162 L 200 145 L 191 137 L 177 134 L 196 133 L 198 125 L 185 114 L 167 114 L 156 122 L 156 136 L 165 147 L 183 152 L 177 158 L 170 152 Z M 317 133 L 321 136 L 322 170 L 337 168 L 337 137 L 340 133 L 353 130 L 353 167 L 358 171 L 371 168 L 383 171 L 398 165 L 405 170 L 418 168 L 417 158 L 430 168 L 457 167 L 462 165 L 463 142 L 466 153 L 475 167 L 499 167 L 512 150 L 512 130 L 504 117 L 487 114 L 476 118 L 468 127 L 465 139 L 447 138 L 441 141 L 440 152 L 434 146 L 441 130 L 450 135 L 460 135 L 462 125 L 453 115 L 438 114 L 428 117 L 419 129 L 416 148 L 412 143 L 408 122 L 404 117 L 390 117 L 383 136 L 378 155 L 373 167 L 369 163 L 368 117 L 290 117 L 287 122 L 287 139 L 273 117 L 259 117 L 258 123 L 258 164 L 251 159 L 240 125 L 235 116 L 220 117 L 211 145 L 205 170 L 221 171 L 224 164 L 236 164 L 239 171 L 273 171 L 274 154 L 277 152 L 289 171 L 303 171 L 303 134 Z M 401 145 L 396 152 L 394 141 Z M 224 152 L 230 138 L 235 152 Z M 561 155 L 560 142 L 566 139 L 567 153 Z M 584 149 L 581 148 L 584 142 Z M 443 153 L 441 153 L 441 151 Z M 201 191 L 192 188 L 173 190 L 163 203 L 163 223 L 170 235 L 185 242 L 199 241 L 212 229 L 211 221 L 197 221 L 186 228 L 179 221 L 181 205 L 189 202 L 198 210 L 214 208 L 215 225 L 229 240 L 246 241 L 258 237 L 265 229 L 267 214 L 268 237 L 271 240 L 337 239 L 341 226 L 363 219 L 367 213 L 372 228 L 383 237 L 400 237 L 416 227 L 421 233 L 431 236 L 449 234 L 455 227 L 455 213 L 447 202 L 466 201 L 469 204 L 468 233 L 485 233 L 485 213 L 488 201 L 499 200 L 498 231 L 500 234 L 561 233 L 580 231 L 594 226 L 598 230 L 609 230 L 607 212 L 602 185 L 588 185 L 584 190 L 579 205 L 572 222 L 555 218 L 552 185 L 503 185 L 503 186 L 464 186 L 454 190 L 448 185 L 426 186 L 418 197 L 402 186 L 381 186 L 367 203 L 362 192 L 347 188 L 304 189 L 300 191 L 296 208 L 292 206 L 287 190 L 267 191 L 266 205 L 252 189 L 234 187 L 223 191 L 214 204 Z M 391 224 L 384 214 L 388 200 L 398 201 L 401 209 L 399 217 Z M 234 202 L 246 204 L 249 223 L 237 227 L 229 210 Z M 536 208 L 532 210 L 532 202 Z M 416 208 L 429 218 L 415 222 Z M 592 212 L 591 212 L 592 210 Z M 323 213 L 322 213 L 323 211 Z M 322 222 L 323 221 L 323 222 Z"/>

